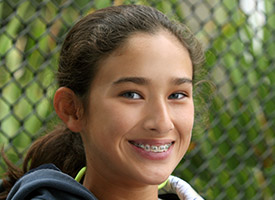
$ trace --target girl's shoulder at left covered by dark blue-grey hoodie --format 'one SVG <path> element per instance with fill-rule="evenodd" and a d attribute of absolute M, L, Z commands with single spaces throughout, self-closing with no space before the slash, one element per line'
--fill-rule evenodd
<path fill-rule="evenodd" d="M 96 200 L 90 191 L 53 164 L 42 165 L 20 178 L 7 197 L 17 199 Z"/>

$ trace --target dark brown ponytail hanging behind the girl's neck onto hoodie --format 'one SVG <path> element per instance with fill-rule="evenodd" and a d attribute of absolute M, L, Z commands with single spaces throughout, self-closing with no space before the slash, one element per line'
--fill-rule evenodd
<path fill-rule="evenodd" d="M 27 152 L 20 169 L 13 165 L 1 152 L 8 166 L 6 178 L 3 179 L 4 192 L 0 193 L 0 200 L 5 200 L 15 182 L 29 170 L 42 164 L 52 163 L 62 172 L 75 177 L 78 171 L 86 165 L 86 157 L 82 139 L 79 133 L 71 132 L 65 125 L 36 140 Z"/>

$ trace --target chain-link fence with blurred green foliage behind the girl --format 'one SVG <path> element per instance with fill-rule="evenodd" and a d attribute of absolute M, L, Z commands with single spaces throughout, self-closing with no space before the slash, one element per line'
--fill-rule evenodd
<path fill-rule="evenodd" d="M 187 24 L 206 49 L 209 120 L 175 174 L 205 199 L 275 199 L 275 0 L 0 0 L 0 146 L 9 159 L 20 165 L 56 121 L 54 74 L 72 24 L 132 3 Z"/>

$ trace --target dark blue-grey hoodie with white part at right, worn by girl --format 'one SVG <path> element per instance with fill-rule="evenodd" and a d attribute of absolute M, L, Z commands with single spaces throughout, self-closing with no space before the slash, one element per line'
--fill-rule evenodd
<path fill-rule="evenodd" d="M 161 200 L 203 200 L 185 181 L 170 176 L 159 190 Z M 45 164 L 30 170 L 11 189 L 7 200 L 98 200 L 88 189 L 62 173 L 55 165 Z"/>

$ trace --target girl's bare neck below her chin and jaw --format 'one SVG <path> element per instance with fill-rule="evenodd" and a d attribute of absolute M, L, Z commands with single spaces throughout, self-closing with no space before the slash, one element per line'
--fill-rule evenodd
<path fill-rule="evenodd" d="M 110 177 L 111 178 L 111 177 Z M 128 180 L 104 178 L 94 171 L 86 171 L 83 185 L 100 200 L 157 200 L 157 185 L 138 185 Z"/>

